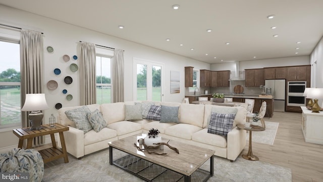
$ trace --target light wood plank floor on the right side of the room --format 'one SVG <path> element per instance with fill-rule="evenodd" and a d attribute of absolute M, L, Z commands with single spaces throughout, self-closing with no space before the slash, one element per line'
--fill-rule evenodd
<path fill-rule="evenodd" d="M 264 118 L 279 122 L 274 145 L 252 143 L 252 152 L 260 161 L 291 168 L 294 182 L 323 181 L 323 145 L 305 142 L 301 117 L 301 113 L 274 112 L 272 118 Z M 247 152 L 248 141 L 242 153 Z"/>

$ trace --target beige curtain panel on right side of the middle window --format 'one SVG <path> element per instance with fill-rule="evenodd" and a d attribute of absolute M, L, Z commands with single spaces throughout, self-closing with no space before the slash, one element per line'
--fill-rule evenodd
<path fill-rule="evenodd" d="M 115 50 L 112 63 L 113 102 L 124 102 L 123 50 Z"/>

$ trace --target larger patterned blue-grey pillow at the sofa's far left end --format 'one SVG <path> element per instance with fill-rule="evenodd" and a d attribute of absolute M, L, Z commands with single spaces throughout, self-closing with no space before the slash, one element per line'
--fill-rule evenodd
<path fill-rule="evenodd" d="M 92 129 L 92 126 L 87 118 L 87 114 L 91 113 L 87 106 L 65 111 L 67 118 L 75 122 L 76 128 L 83 130 L 84 134 Z"/>

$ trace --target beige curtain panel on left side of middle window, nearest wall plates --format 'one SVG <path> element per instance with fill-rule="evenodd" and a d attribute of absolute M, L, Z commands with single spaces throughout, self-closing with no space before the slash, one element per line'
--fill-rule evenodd
<path fill-rule="evenodd" d="M 80 104 L 96 103 L 95 44 L 81 42 Z"/>

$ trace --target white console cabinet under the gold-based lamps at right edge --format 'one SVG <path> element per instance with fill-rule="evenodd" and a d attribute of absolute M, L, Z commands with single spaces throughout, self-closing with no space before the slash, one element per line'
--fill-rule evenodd
<path fill-rule="evenodd" d="M 312 113 L 305 106 L 302 109 L 302 131 L 305 142 L 323 145 L 323 111 Z"/>

